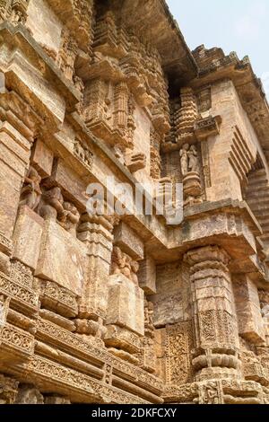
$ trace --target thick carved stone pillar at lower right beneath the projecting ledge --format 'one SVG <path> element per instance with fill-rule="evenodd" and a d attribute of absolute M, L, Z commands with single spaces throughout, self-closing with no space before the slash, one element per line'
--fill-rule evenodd
<path fill-rule="evenodd" d="M 239 334 L 228 269 L 229 256 L 219 246 L 188 251 L 190 266 L 196 381 L 239 376 Z"/>

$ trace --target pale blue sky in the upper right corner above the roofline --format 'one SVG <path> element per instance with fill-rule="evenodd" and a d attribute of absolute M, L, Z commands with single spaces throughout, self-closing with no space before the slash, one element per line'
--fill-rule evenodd
<path fill-rule="evenodd" d="M 189 48 L 248 56 L 269 94 L 269 0 L 167 0 Z"/>

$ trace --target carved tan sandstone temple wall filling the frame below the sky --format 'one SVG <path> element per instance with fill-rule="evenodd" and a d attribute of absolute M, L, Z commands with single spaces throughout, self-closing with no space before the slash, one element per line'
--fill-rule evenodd
<path fill-rule="evenodd" d="M 0 0 L 0 84 L 0 403 L 268 403 L 247 57 L 190 52 L 161 0 Z M 183 221 L 89 213 L 108 176 L 181 183 Z"/>

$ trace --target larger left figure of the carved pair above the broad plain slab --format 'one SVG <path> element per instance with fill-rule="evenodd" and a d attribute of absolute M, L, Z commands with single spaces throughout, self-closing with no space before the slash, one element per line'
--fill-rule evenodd
<path fill-rule="evenodd" d="M 64 198 L 61 193 L 60 188 L 52 188 L 42 195 L 42 204 L 39 209 L 39 215 L 45 219 L 53 219 L 56 221 L 56 218 L 62 220 L 67 212 L 64 207 Z"/>

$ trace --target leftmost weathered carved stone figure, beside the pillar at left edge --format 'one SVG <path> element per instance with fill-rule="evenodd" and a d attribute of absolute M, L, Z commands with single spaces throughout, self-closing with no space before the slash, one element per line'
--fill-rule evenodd
<path fill-rule="evenodd" d="M 27 205 L 33 211 L 39 206 L 41 198 L 40 181 L 38 171 L 30 166 L 24 179 L 20 204 Z"/>

